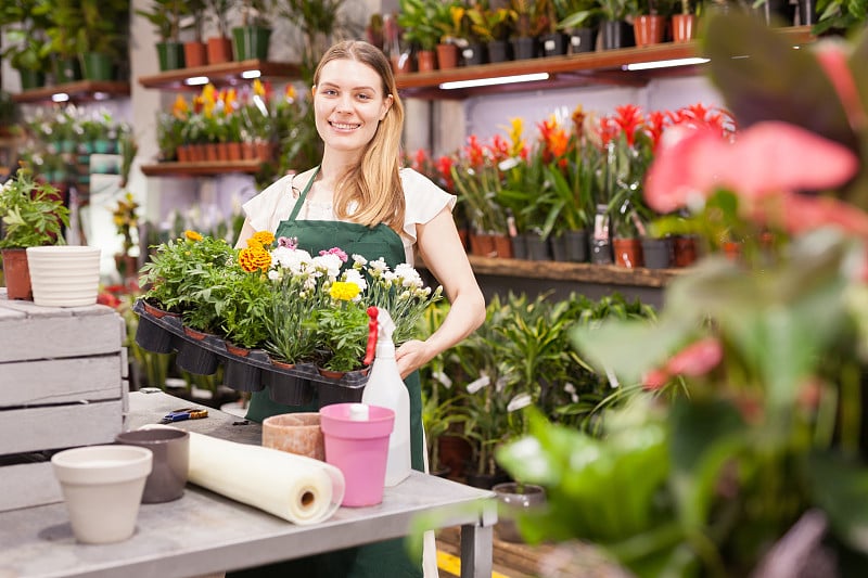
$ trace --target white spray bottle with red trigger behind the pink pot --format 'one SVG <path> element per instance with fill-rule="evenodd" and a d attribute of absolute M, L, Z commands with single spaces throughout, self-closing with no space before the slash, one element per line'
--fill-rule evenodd
<path fill-rule="evenodd" d="M 395 412 L 395 427 L 388 438 L 385 485 L 397 486 L 410 475 L 410 394 L 395 362 L 395 344 L 392 341 L 395 322 L 392 316 L 376 307 L 369 307 L 368 316 L 368 355 L 365 361 L 370 363 L 373 360 L 374 363 L 361 394 L 361 402 Z M 371 359 L 374 351 L 375 358 Z"/>

